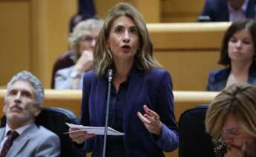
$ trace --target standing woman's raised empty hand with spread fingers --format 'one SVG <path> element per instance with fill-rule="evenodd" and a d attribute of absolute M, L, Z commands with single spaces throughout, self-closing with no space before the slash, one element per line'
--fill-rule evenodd
<path fill-rule="evenodd" d="M 145 114 L 142 115 L 140 112 L 137 112 L 137 116 L 150 133 L 160 136 L 162 132 L 162 123 L 160 121 L 160 117 L 156 112 L 150 110 L 146 105 L 143 106 L 143 109 L 145 110 Z"/>

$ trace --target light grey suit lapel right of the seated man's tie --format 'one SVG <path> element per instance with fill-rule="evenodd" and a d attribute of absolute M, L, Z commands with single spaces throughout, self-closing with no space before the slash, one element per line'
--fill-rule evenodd
<path fill-rule="evenodd" d="M 36 127 L 36 124 L 32 124 L 30 127 L 28 127 L 27 130 L 25 130 L 24 133 L 22 133 L 22 135 L 20 135 L 18 138 L 16 138 L 15 141 L 13 141 L 13 146 L 10 147 L 7 156 L 17 156 L 17 154 L 22 150 L 22 148 L 26 146 L 30 137 L 33 136 L 37 130 L 38 127 Z"/>

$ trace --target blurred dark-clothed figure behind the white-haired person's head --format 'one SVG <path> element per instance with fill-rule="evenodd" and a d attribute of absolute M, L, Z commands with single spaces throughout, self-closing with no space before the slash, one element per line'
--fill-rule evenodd
<path fill-rule="evenodd" d="M 80 21 L 95 18 L 96 16 L 93 0 L 77 0 L 77 4 L 78 12 L 70 19 L 70 33 L 73 31 L 73 27 Z"/>

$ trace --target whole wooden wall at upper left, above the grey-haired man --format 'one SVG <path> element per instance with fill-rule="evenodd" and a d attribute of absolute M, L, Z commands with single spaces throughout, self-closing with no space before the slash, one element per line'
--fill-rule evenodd
<path fill-rule="evenodd" d="M 75 0 L 0 1 L 0 86 L 30 70 L 50 86 L 53 62 L 68 49 L 68 20 Z"/>

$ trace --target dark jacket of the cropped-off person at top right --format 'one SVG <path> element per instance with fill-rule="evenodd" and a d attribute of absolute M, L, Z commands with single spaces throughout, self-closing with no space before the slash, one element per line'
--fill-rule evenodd
<path fill-rule="evenodd" d="M 229 21 L 227 0 L 206 0 L 200 16 L 209 16 L 210 21 Z M 247 19 L 255 19 L 255 0 L 249 0 L 246 10 Z"/>

